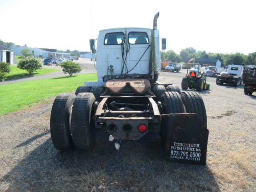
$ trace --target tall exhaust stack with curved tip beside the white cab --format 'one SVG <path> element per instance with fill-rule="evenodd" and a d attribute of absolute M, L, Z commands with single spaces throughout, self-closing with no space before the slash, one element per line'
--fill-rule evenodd
<path fill-rule="evenodd" d="M 154 16 L 153 29 L 151 31 L 151 52 L 152 52 L 152 70 L 154 74 L 160 71 L 160 37 L 157 30 L 157 19 L 159 12 Z"/>

